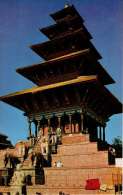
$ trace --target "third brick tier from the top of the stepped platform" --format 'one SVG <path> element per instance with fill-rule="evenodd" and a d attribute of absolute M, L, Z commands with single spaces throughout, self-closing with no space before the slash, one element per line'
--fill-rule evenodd
<path fill-rule="evenodd" d="M 63 167 L 74 168 L 74 167 L 93 167 L 100 165 L 108 165 L 108 152 L 99 151 L 90 154 L 75 154 L 75 155 L 52 155 L 52 166 L 55 163 L 61 161 Z"/>

